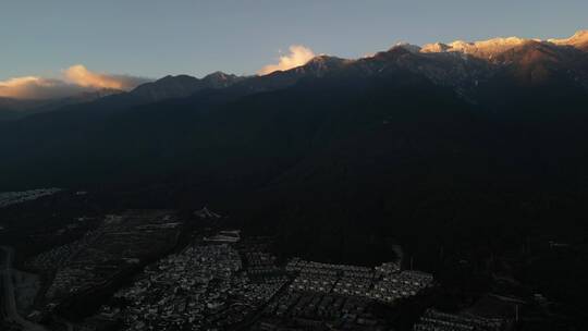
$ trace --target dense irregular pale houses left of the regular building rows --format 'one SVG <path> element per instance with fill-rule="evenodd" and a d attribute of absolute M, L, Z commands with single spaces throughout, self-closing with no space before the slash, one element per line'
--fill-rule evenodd
<path fill-rule="evenodd" d="M 126 302 L 117 317 L 126 330 L 222 330 L 243 323 L 287 279 L 253 282 L 241 256 L 232 244 L 203 241 L 163 258 L 117 294 Z"/>

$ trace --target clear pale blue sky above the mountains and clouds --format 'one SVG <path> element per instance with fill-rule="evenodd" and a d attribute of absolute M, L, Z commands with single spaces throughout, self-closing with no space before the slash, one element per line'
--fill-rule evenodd
<path fill-rule="evenodd" d="M 252 74 L 299 44 L 346 58 L 397 41 L 566 37 L 587 0 L 1 0 L 0 79 L 72 64 L 160 77 Z"/>

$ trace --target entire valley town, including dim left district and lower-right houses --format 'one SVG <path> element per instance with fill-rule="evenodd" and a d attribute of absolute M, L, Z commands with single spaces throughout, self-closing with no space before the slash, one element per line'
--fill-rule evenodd
<path fill-rule="evenodd" d="M 24 261 L 42 286 L 20 309 L 57 330 L 391 330 L 439 287 L 403 263 L 400 247 L 376 266 L 283 256 L 274 237 L 230 228 L 206 207 L 78 217 L 52 235 L 70 231 L 83 234 Z M 510 319 L 427 307 L 412 330 L 512 330 Z"/>

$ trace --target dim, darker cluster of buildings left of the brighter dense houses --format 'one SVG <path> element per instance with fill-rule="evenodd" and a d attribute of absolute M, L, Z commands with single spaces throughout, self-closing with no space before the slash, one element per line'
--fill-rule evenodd
<path fill-rule="evenodd" d="M 133 270 L 142 260 L 173 247 L 180 224 L 170 210 L 126 210 L 107 216 L 78 242 L 36 259 L 58 262 L 46 298 L 63 302 Z"/>

